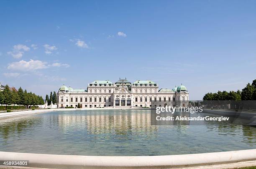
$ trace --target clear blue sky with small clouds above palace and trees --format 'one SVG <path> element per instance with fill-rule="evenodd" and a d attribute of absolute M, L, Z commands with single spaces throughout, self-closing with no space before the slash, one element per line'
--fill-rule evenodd
<path fill-rule="evenodd" d="M 127 77 L 202 99 L 256 79 L 256 1 L 2 0 L 0 59 L 0 82 L 43 97 Z"/>

